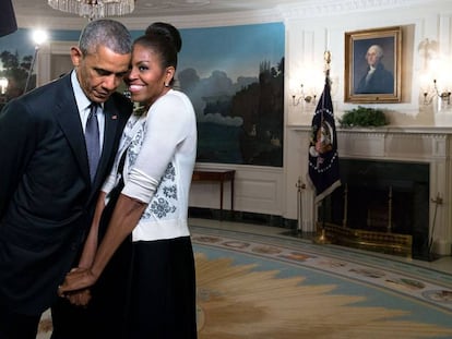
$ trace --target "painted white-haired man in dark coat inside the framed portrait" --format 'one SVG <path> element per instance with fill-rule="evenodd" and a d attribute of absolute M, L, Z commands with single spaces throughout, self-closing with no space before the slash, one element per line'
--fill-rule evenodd
<path fill-rule="evenodd" d="M 394 76 L 381 63 L 383 49 L 379 45 L 369 47 L 366 53 L 367 72 L 356 87 L 356 94 L 393 94 Z"/>

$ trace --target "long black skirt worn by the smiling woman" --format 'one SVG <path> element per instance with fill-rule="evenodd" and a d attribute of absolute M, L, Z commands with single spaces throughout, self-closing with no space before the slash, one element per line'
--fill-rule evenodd
<path fill-rule="evenodd" d="M 133 243 L 128 338 L 197 338 L 190 237 Z"/>

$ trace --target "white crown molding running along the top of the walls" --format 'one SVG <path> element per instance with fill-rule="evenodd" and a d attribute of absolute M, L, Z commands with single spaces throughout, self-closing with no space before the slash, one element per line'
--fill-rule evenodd
<path fill-rule="evenodd" d="M 132 13 L 131 15 L 114 19 L 122 22 L 132 31 L 143 29 L 143 27 L 146 27 L 154 21 L 171 22 L 180 28 L 201 28 L 337 16 L 415 7 L 428 9 L 435 4 L 448 8 L 450 0 L 305 0 L 296 4 L 276 4 L 273 10 L 227 12 L 222 14 L 156 15 L 147 17 L 134 17 Z M 47 29 L 70 31 L 80 31 L 87 22 L 86 19 L 79 16 L 43 17 L 27 15 L 17 15 L 16 21 L 19 27 L 23 28 L 45 27 Z"/>

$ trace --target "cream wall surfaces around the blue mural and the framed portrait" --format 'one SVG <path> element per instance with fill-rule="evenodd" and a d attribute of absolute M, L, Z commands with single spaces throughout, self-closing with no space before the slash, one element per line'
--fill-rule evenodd
<path fill-rule="evenodd" d="M 332 53 L 331 78 L 335 116 L 341 117 L 345 110 L 356 106 L 345 104 L 343 99 L 344 34 L 346 32 L 402 26 L 404 55 L 402 102 L 380 104 L 378 107 L 389 111 L 391 125 L 395 128 L 413 125 L 435 128 L 444 124 L 452 126 L 452 118 L 437 114 L 431 106 L 423 105 L 420 76 L 425 72 L 425 60 L 418 51 L 419 44 L 426 38 L 436 40 L 439 43 L 440 55 L 449 58 L 452 64 L 452 2 L 450 0 L 308 0 L 299 5 L 277 5 L 275 11 L 255 12 L 253 15 L 247 13 L 229 16 L 150 17 L 145 21 L 120 20 L 130 29 L 143 29 L 157 20 L 171 22 L 180 28 L 284 22 L 286 27 L 284 168 L 202 164 L 202 167 L 236 169 L 236 210 L 297 219 L 296 185 L 298 180 L 306 182 L 309 144 L 308 134 L 299 133 L 299 131 L 310 125 L 314 106 L 311 105 L 301 110 L 300 106 L 292 105 L 292 95 L 298 94 L 297 90 L 301 83 L 306 88 L 322 87 L 323 52 L 329 49 Z M 25 22 L 24 19 L 17 17 L 17 21 L 21 26 L 34 25 L 29 20 Z M 55 20 L 47 21 L 47 25 L 51 27 L 61 28 L 60 24 Z M 64 23 L 64 28 L 81 27 L 82 24 L 80 20 L 68 21 Z M 48 46 L 48 55 L 46 56 L 45 51 L 41 53 L 39 69 L 50 70 L 52 50 L 58 53 L 60 49 L 61 46 Z M 46 81 L 44 73 L 40 73 L 39 81 L 41 82 Z M 449 133 L 448 131 L 449 129 L 445 129 L 444 133 Z M 450 156 L 449 150 L 447 155 Z M 193 184 L 191 205 L 217 208 L 218 190 L 215 183 Z M 225 208 L 228 208 L 228 194 L 230 194 L 228 185 L 225 185 Z M 302 190 L 301 199 L 301 215 L 305 216 L 304 230 L 313 230 L 314 208 L 312 192 L 309 187 Z M 452 237 L 450 231 L 447 237 L 450 241 Z"/>

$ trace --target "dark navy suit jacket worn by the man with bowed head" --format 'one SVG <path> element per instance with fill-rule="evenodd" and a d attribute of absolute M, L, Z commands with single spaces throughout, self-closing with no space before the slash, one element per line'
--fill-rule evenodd
<path fill-rule="evenodd" d="M 70 74 L 0 112 L 0 307 L 34 315 L 55 301 L 82 249 L 131 111 L 119 93 L 105 102 L 93 184 Z"/>

